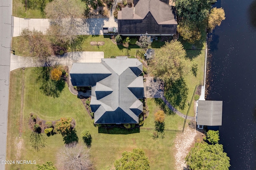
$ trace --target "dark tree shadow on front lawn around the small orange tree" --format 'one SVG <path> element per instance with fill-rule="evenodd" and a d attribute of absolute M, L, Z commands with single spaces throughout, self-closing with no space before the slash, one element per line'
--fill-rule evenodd
<path fill-rule="evenodd" d="M 58 81 L 50 78 L 50 67 L 38 67 L 39 76 L 37 82 L 40 83 L 40 90 L 46 96 L 58 98 L 65 87 L 65 80 Z"/>

